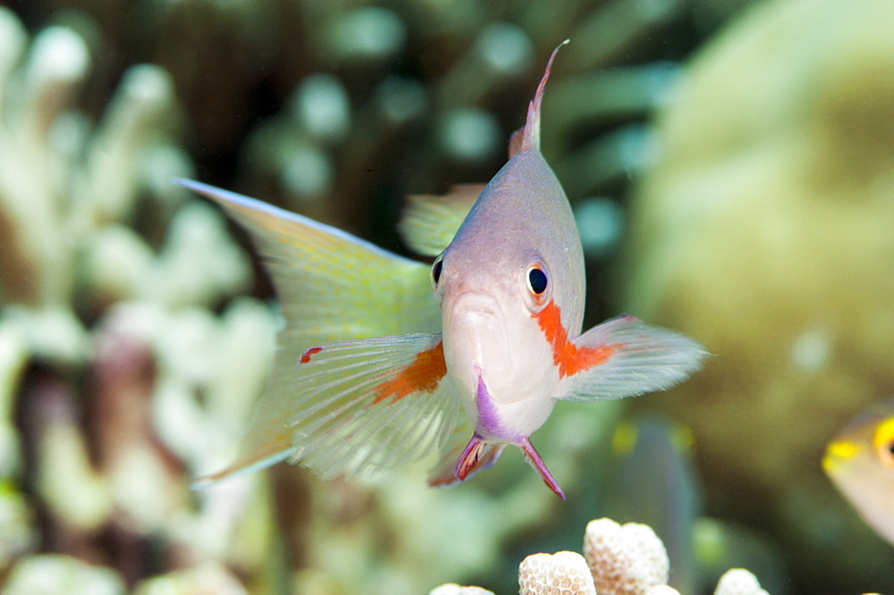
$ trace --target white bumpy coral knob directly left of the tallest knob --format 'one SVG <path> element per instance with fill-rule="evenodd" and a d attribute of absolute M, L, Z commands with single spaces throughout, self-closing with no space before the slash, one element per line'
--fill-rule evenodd
<path fill-rule="evenodd" d="M 573 551 L 534 554 L 519 566 L 520 595 L 596 595 L 586 560 Z"/>

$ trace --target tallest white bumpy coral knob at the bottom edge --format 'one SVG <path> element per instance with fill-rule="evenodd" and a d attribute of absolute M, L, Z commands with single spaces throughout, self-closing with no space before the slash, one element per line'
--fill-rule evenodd
<path fill-rule="evenodd" d="M 634 595 L 668 582 L 667 551 L 645 524 L 621 526 L 608 518 L 590 521 L 584 556 L 600 595 Z"/>

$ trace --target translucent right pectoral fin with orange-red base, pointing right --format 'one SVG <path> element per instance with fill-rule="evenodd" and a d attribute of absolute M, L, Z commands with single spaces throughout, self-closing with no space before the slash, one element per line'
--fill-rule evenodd
<path fill-rule="evenodd" d="M 670 389 L 700 370 L 708 355 L 696 339 L 627 315 L 586 331 L 565 351 L 560 398 L 572 401 Z"/>

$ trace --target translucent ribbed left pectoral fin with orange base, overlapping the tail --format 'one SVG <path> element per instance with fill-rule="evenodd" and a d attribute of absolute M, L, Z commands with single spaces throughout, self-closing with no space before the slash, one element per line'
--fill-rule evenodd
<path fill-rule="evenodd" d="M 288 390 L 268 391 L 258 402 L 256 416 L 266 422 L 250 426 L 244 440 L 255 449 L 240 457 L 247 465 L 229 473 L 291 457 L 324 478 L 357 477 L 425 457 L 443 448 L 457 423 L 460 400 L 445 373 L 440 334 L 308 348 L 292 363 Z M 278 459 L 265 446 L 270 432 L 280 432 L 274 447 L 285 447 L 288 437 Z"/>

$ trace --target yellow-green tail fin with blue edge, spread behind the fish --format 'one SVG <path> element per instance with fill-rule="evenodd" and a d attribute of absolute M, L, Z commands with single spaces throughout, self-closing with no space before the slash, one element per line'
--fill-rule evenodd
<path fill-rule="evenodd" d="M 270 380 L 252 413 L 235 463 L 207 480 L 247 473 L 291 457 L 283 420 L 308 347 L 338 339 L 435 332 L 440 311 L 429 267 L 342 230 L 261 201 L 191 180 L 175 180 L 213 200 L 249 231 L 265 257 L 285 318 Z"/>

